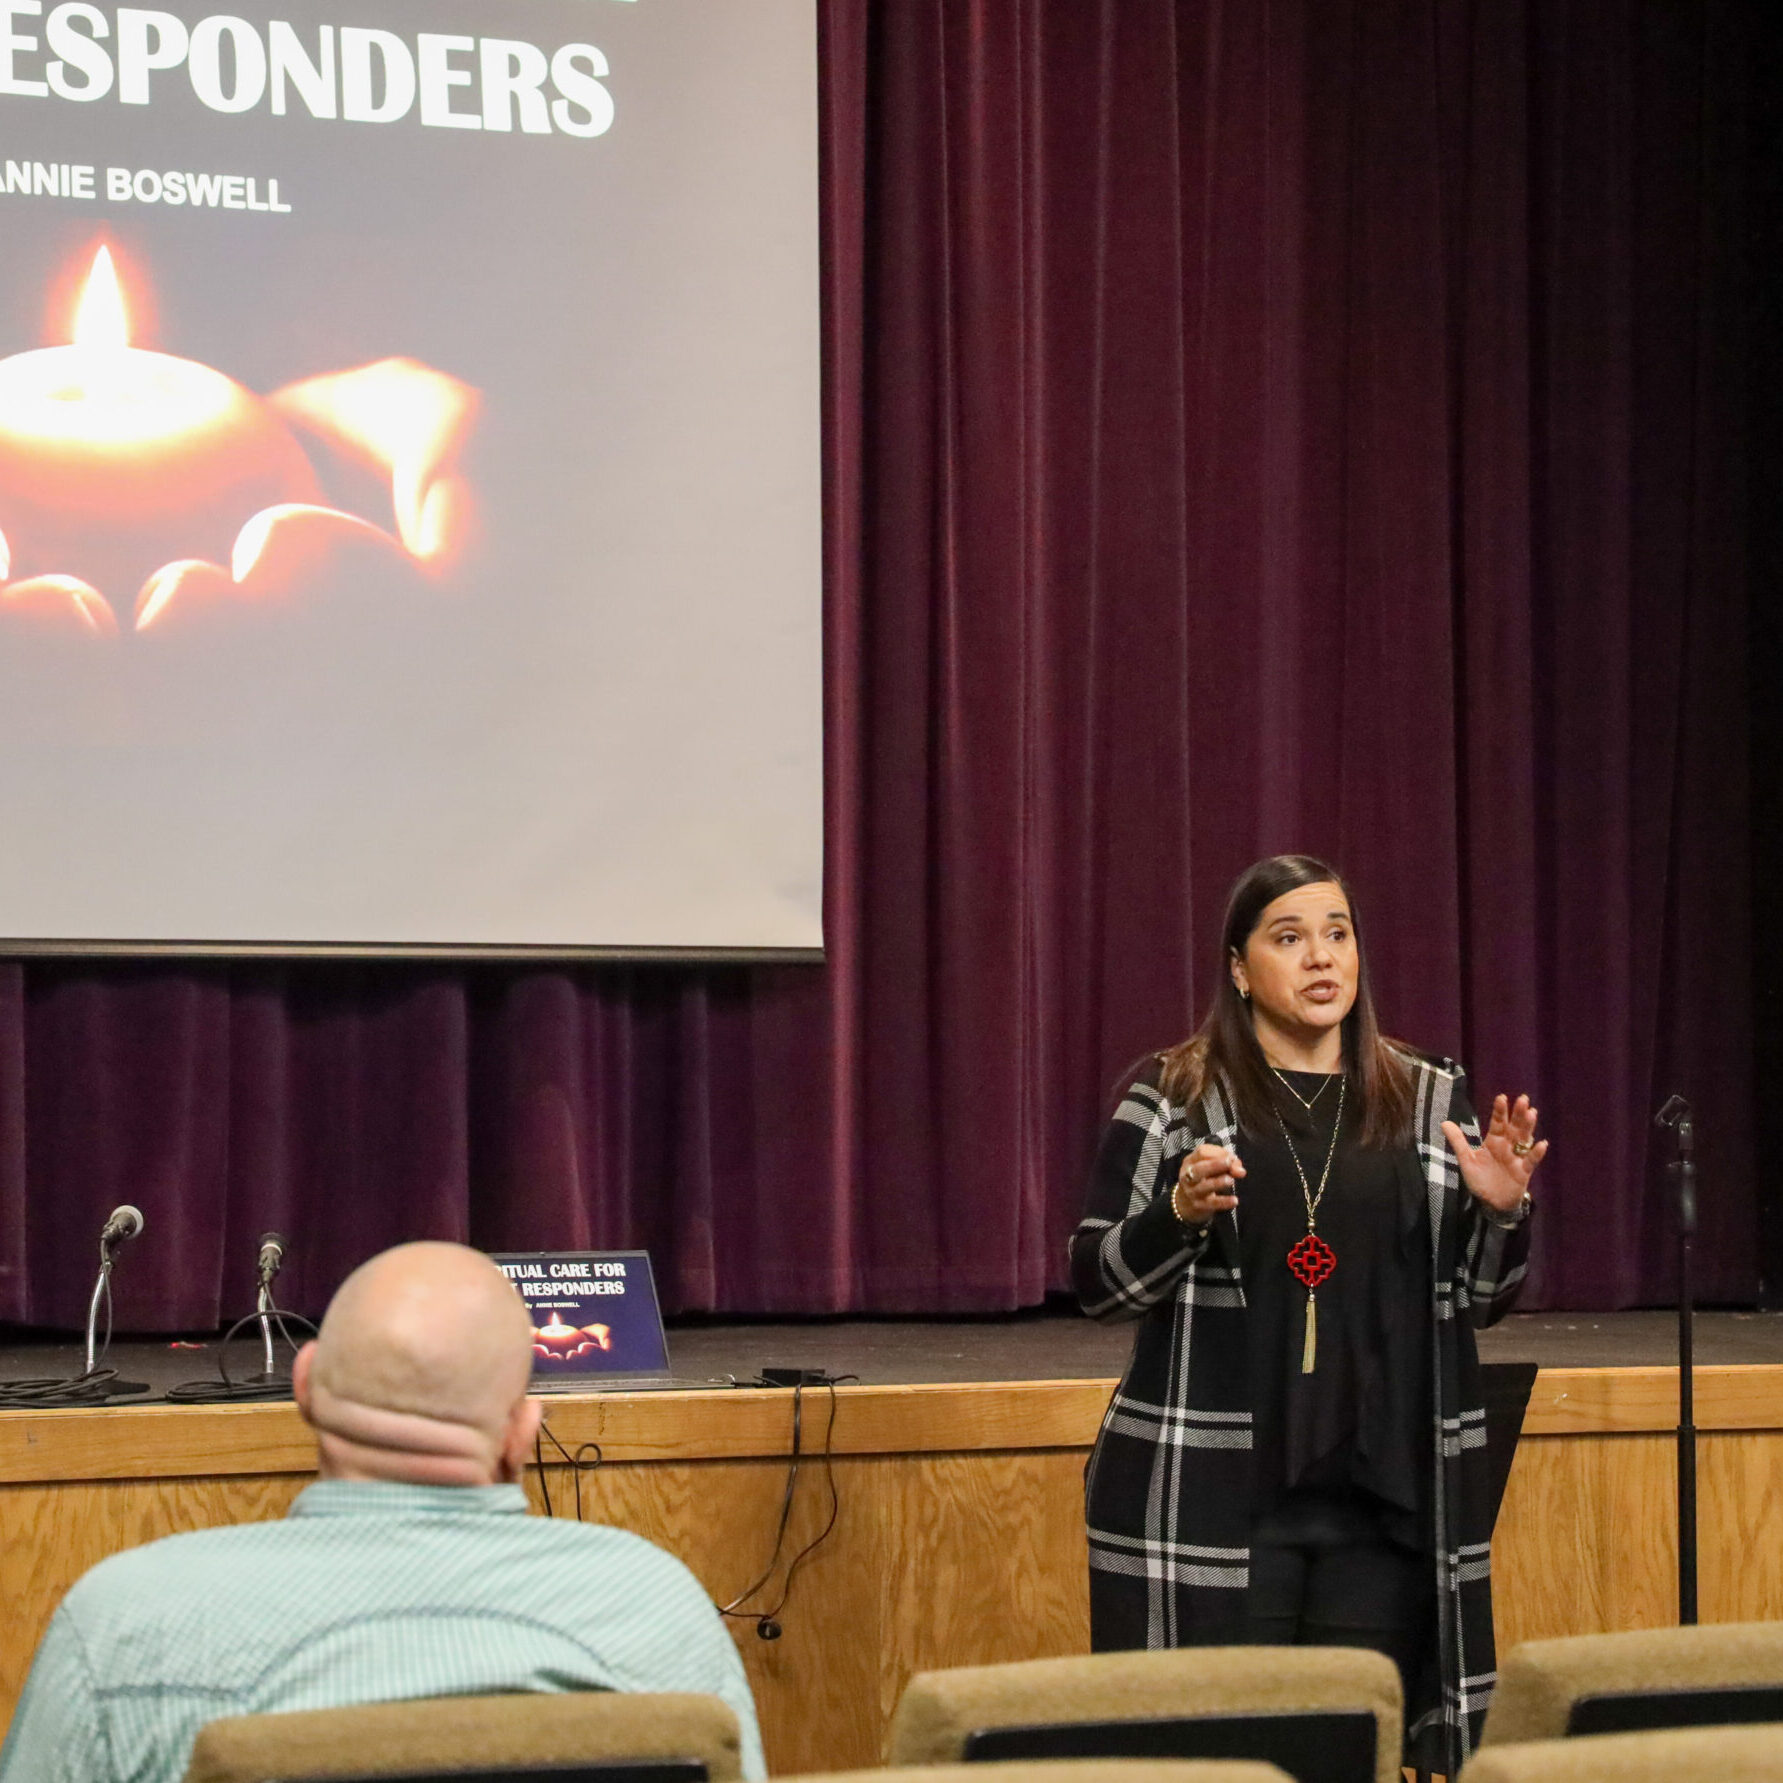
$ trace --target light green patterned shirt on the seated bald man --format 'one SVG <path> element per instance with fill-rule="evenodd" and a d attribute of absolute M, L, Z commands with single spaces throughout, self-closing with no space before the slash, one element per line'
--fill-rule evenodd
<path fill-rule="evenodd" d="M 323 1480 L 282 1523 L 100 1562 L 62 1599 L 0 1783 L 178 1783 L 221 1715 L 497 1690 L 701 1690 L 765 1776 L 736 1646 L 679 1560 L 517 1485 Z"/>

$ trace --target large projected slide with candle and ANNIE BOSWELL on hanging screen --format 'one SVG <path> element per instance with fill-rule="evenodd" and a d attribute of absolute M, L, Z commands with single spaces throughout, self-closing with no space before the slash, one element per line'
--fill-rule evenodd
<path fill-rule="evenodd" d="M 820 701 L 813 0 L 0 0 L 0 950 L 815 949 Z"/>

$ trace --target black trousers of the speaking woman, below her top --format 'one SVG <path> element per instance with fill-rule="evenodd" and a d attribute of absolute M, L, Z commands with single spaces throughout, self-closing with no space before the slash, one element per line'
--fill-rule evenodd
<path fill-rule="evenodd" d="M 1245 1612 L 1245 1639 L 1257 1646 L 1385 1653 L 1410 1703 L 1430 1647 L 1435 1564 L 1393 1541 L 1369 1501 L 1294 1492 L 1252 1530 Z"/>

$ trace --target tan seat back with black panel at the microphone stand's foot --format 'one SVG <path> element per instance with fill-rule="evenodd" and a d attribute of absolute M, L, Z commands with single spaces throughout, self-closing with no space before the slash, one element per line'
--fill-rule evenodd
<path fill-rule="evenodd" d="M 1747 1721 L 1783 1722 L 1783 1623 L 1524 1640 L 1500 1665 L 1480 1749 Z"/>

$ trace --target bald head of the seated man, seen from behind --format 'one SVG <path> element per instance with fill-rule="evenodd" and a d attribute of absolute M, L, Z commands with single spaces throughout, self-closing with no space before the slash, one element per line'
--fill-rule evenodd
<path fill-rule="evenodd" d="M 508 1278 L 481 1252 L 421 1243 L 341 1284 L 294 1384 L 325 1475 L 487 1485 L 524 1464 L 531 1368 L 531 1318 Z"/>

